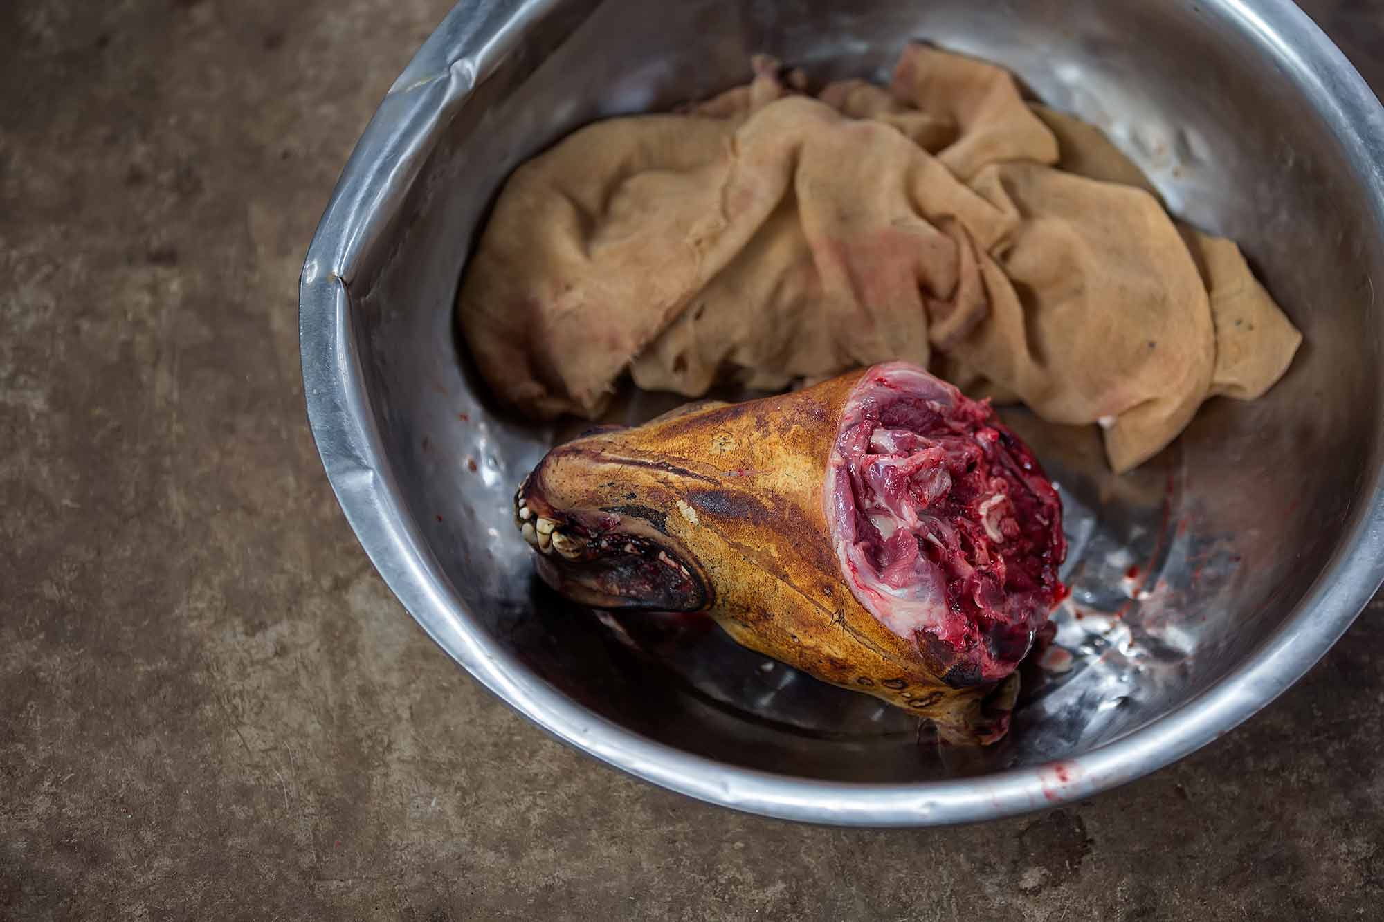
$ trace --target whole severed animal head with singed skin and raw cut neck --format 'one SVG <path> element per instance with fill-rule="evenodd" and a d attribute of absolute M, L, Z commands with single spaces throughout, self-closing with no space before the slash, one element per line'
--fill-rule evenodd
<path fill-rule="evenodd" d="M 588 433 L 525 479 L 515 523 L 567 598 L 707 612 L 951 742 L 1003 735 L 1063 594 L 1062 504 L 1028 449 L 904 363 Z"/>

